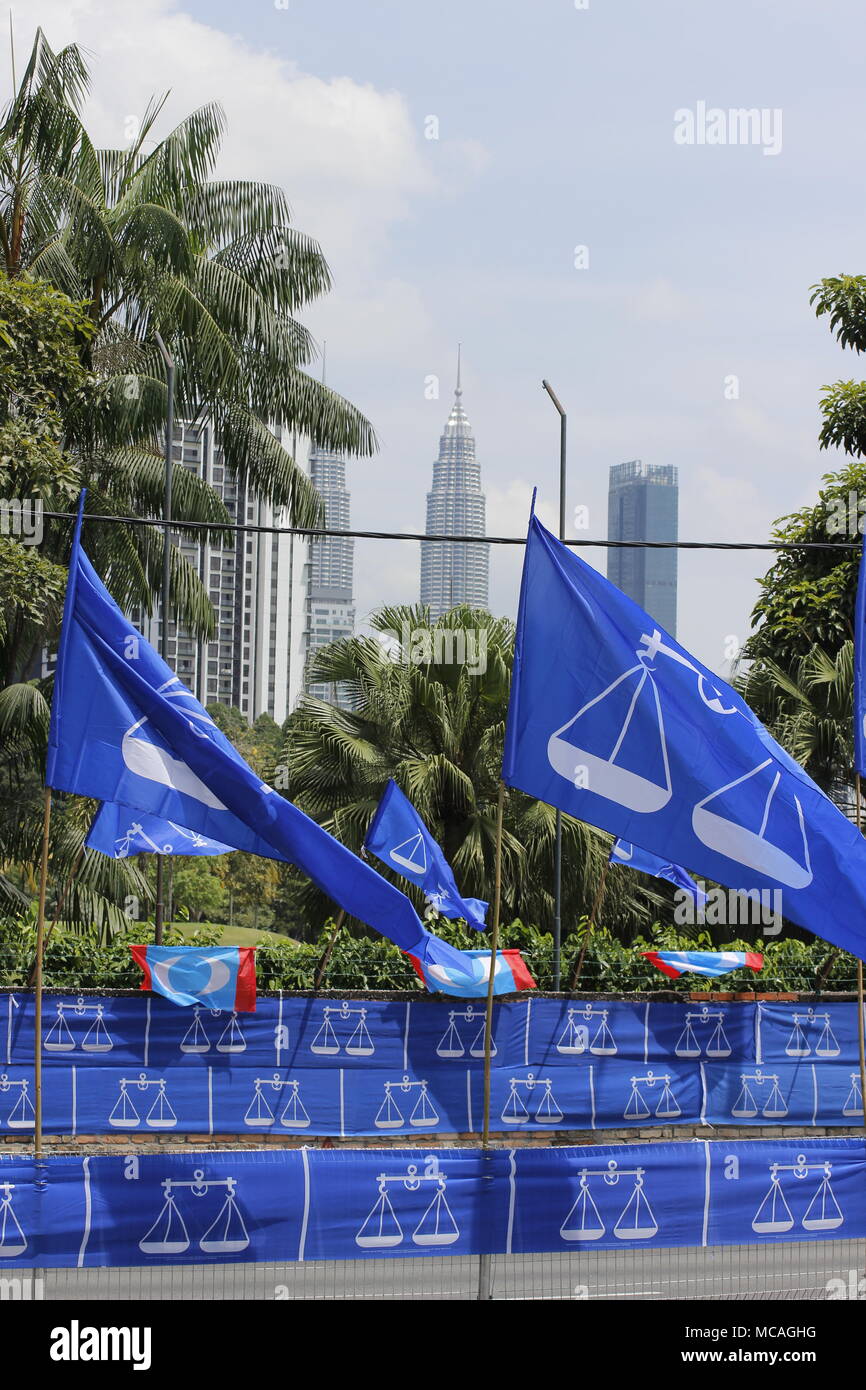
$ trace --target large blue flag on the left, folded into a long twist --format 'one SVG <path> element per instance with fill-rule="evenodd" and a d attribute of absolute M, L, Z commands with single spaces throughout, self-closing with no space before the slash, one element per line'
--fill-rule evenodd
<path fill-rule="evenodd" d="M 46 784 L 172 820 L 297 865 L 350 916 L 423 960 L 459 967 L 370 865 L 263 783 L 124 617 L 81 549 L 79 507 L 49 730 Z"/>

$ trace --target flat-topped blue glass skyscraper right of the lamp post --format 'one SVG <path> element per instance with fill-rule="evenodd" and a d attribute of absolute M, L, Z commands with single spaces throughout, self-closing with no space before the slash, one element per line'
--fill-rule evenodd
<path fill-rule="evenodd" d="M 680 484 L 670 464 L 639 459 L 614 463 L 607 489 L 609 541 L 676 541 Z M 677 552 L 616 549 L 607 552 L 607 578 L 677 632 Z"/>

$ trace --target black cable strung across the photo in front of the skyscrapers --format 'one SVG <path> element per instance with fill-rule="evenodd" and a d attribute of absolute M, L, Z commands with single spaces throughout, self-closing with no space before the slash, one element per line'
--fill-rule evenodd
<path fill-rule="evenodd" d="M 74 521 L 74 512 L 43 512 L 51 521 Z M 85 521 L 163 527 L 161 517 L 115 517 L 86 512 Z M 311 541 L 448 541 L 456 545 L 525 545 L 524 535 L 425 535 L 423 531 L 334 531 L 328 527 L 253 525 L 240 521 L 171 521 L 174 531 L 234 531 L 253 535 L 299 535 Z M 589 541 L 567 537 L 563 545 L 607 550 L 859 550 L 860 541 Z"/>

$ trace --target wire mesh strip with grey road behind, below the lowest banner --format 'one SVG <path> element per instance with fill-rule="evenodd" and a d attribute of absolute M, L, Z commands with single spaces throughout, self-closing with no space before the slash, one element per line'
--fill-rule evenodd
<path fill-rule="evenodd" d="M 487 1262 L 485 1262 L 487 1261 Z M 866 1240 L 309 1264 L 4 1268 L 25 1300 L 866 1300 Z"/>

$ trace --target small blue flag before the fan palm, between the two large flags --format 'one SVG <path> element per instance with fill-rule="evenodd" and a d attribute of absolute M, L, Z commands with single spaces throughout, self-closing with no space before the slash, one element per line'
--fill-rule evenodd
<path fill-rule="evenodd" d="M 430 906 L 443 917 L 464 917 L 470 927 L 484 931 L 488 903 L 460 897 L 448 859 L 393 780 L 382 792 L 364 849 L 423 888 Z"/>

